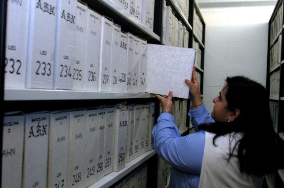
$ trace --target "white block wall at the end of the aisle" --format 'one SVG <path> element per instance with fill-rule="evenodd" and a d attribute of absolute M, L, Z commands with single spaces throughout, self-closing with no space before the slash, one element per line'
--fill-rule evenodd
<path fill-rule="evenodd" d="M 197 2 L 206 24 L 203 101 L 211 112 L 227 76 L 266 85 L 268 21 L 276 0 Z"/>

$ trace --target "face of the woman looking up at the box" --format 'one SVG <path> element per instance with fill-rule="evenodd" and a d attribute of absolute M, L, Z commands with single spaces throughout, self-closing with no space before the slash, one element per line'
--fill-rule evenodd
<path fill-rule="evenodd" d="M 226 93 L 227 93 L 227 84 L 224 85 L 223 89 L 219 92 L 219 96 L 213 99 L 213 103 L 215 104 L 213 107 L 213 111 L 211 112 L 211 117 L 215 121 L 219 122 L 226 122 L 229 120 L 229 116 L 232 114 L 227 109 L 227 100 L 226 100 Z"/>

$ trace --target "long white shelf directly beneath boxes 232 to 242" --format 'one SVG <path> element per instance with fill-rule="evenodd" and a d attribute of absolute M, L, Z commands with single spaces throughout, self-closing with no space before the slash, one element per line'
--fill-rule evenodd
<path fill-rule="evenodd" d="M 151 93 L 93 92 L 49 89 L 5 89 L 4 101 L 154 98 Z"/>

